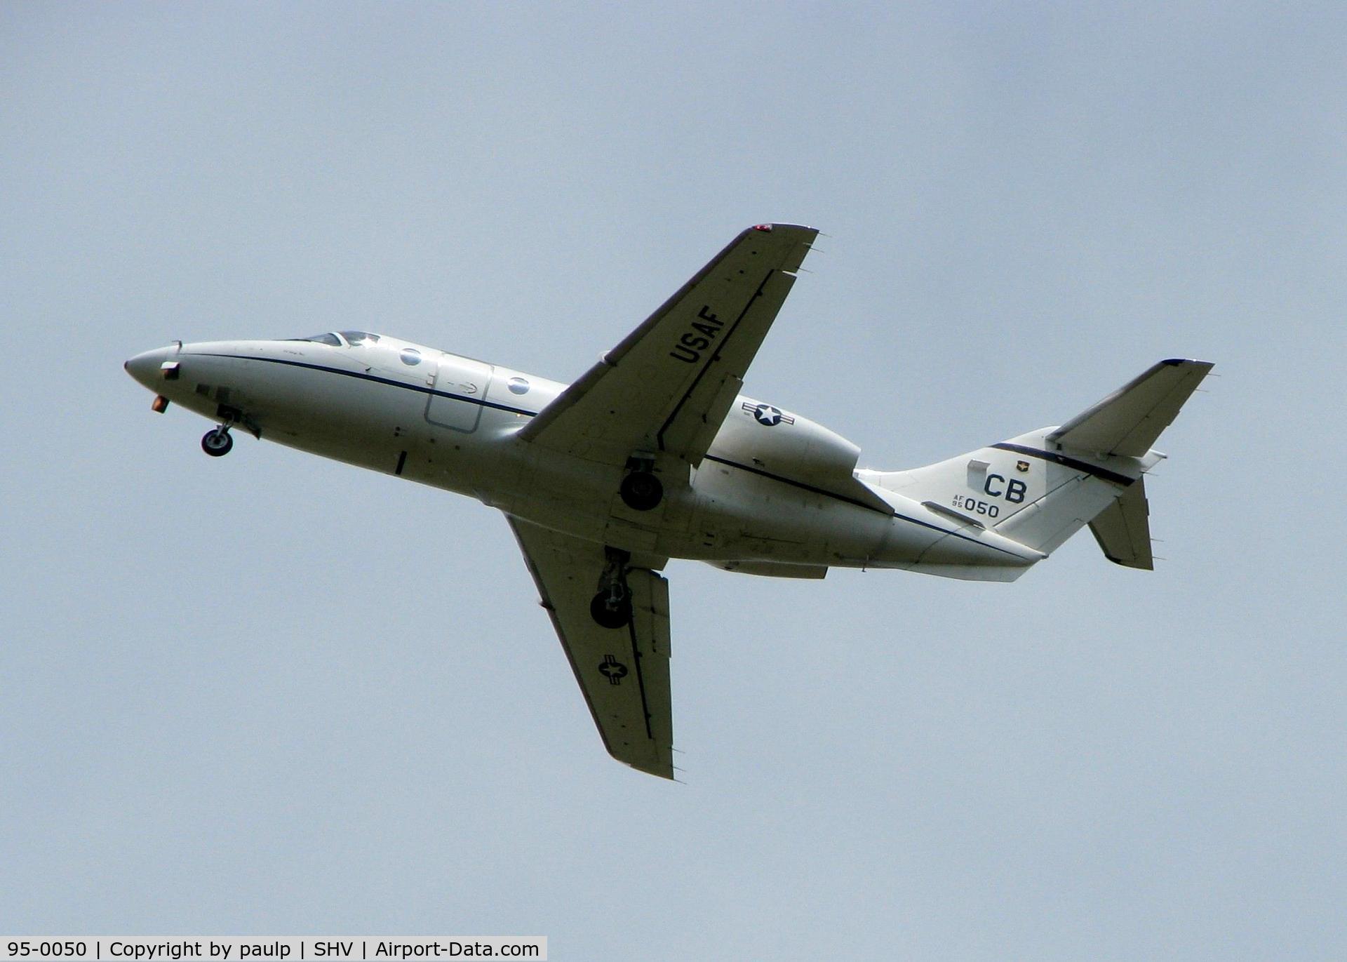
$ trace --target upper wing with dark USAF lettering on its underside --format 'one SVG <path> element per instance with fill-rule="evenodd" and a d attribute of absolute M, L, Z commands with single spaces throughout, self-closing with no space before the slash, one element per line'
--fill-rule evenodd
<path fill-rule="evenodd" d="M 818 233 L 741 233 L 519 437 L 603 463 L 636 451 L 699 463 Z"/>

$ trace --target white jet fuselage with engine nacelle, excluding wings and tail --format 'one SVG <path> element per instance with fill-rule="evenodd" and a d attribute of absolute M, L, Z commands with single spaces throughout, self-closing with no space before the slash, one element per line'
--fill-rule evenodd
<path fill-rule="evenodd" d="M 854 445 L 749 397 L 735 399 L 700 465 L 660 459 L 664 499 L 634 511 L 618 496 L 620 468 L 515 438 L 566 385 L 501 365 L 380 335 L 354 345 L 174 345 L 139 354 L 127 369 L 236 431 L 469 494 L 643 558 L 822 577 L 831 566 L 919 562 L 1024 569 L 1043 556 L 862 485 L 853 477 Z"/>

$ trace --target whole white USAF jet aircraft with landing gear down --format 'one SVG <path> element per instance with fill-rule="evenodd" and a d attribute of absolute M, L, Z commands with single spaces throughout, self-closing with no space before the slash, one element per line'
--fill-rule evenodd
<path fill-rule="evenodd" d="M 1211 364 L 1168 360 L 1076 415 L 915 470 L 740 393 L 816 230 L 749 228 L 578 381 L 345 330 L 174 342 L 125 368 L 232 430 L 500 508 L 603 745 L 674 776 L 669 558 L 822 578 L 828 567 L 1014 581 L 1086 524 L 1152 567 L 1152 443 Z"/>

